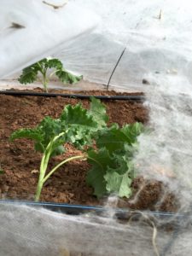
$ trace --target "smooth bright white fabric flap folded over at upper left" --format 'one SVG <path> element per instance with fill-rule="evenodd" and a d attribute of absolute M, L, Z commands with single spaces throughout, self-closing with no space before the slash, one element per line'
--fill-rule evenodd
<path fill-rule="evenodd" d="M 76 3 L 2 0 L 0 8 L 0 78 L 52 55 L 62 44 L 90 32 L 98 17 Z"/>

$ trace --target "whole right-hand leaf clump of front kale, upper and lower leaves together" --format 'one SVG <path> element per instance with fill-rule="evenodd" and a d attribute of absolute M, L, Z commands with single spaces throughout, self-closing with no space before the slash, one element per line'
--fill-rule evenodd
<path fill-rule="evenodd" d="M 132 157 L 137 150 L 137 136 L 142 131 L 143 125 L 139 123 L 123 128 L 113 124 L 98 131 L 96 146 L 99 149 L 91 153 L 96 163 L 89 160 L 92 168 L 88 173 L 88 183 L 97 197 L 108 193 L 131 195 L 131 182 L 135 177 Z"/>

